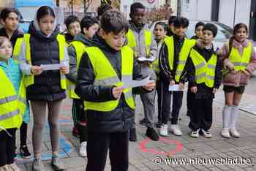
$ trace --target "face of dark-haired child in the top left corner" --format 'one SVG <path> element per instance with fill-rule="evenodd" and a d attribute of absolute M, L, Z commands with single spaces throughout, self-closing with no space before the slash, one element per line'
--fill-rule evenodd
<path fill-rule="evenodd" d="M 15 31 L 18 28 L 18 15 L 15 12 L 10 12 L 8 17 L 3 21 L 4 28 L 8 31 Z"/>

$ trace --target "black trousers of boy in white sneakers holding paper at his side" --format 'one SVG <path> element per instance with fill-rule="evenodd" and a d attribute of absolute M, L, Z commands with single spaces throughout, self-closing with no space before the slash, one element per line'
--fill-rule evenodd
<path fill-rule="evenodd" d="M 170 117 L 170 98 L 173 94 L 173 107 L 172 117 L 170 120 L 171 124 L 178 123 L 178 115 L 181 110 L 183 91 L 169 91 L 169 82 L 160 81 L 161 90 L 161 102 L 160 110 L 162 112 L 162 123 L 167 124 L 168 118 Z"/>

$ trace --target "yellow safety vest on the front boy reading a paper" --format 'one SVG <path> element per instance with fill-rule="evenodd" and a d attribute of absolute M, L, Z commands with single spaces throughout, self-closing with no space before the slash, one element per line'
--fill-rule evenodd
<path fill-rule="evenodd" d="M 87 47 L 91 65 L 94 68 L 94 85 L 96 86 L 122 86 L 115 69 L 108 61 L 108 58 L 102 53 L 98 47 Z M 128 46 L 121 47 L 121 77 L 122 79 L 132 79 L 133 71 L 133 53 Z M 124 99 L 133 110 L 135 109 L 135 101 L 132 96 L 132 88 L 126 88 L 123 91 Z M 119 99 L 108 102 L 84 102 L 85 110 L 96 110 L 108 112 L 116 109 Z"/>

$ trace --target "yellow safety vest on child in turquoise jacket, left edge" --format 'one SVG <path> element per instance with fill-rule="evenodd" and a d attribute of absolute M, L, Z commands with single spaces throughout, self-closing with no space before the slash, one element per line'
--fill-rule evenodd
<path fill-rule="evenodd" d="M 17 93 L 12 82 L 1 68 L 0 81 L 0 132 L 3 129 L 19 129 L 26 110 L 26 88 L 21 81 Z"/>

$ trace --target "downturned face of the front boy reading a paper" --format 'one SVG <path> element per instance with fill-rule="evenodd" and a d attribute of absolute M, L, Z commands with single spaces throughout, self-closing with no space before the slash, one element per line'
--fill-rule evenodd
<path fill-rule="evenodd" d="M 121 50 L 121 47 L 124 45 L 126 39 L 125 32 L 121 31 L 119 34 L 114 34 L 112 31 L 106 33 L 103 29 L 100 30 L 102 38 L 105 39 L 105 42 L 112 47 L 114 50 Z"/>

